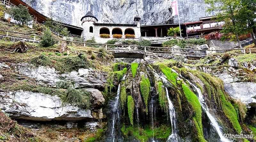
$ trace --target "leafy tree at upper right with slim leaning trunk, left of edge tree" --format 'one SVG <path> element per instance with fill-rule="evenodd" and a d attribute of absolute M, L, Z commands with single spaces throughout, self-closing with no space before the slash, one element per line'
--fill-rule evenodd
<path fill-rule="evenodd" d="M 205 0 L 206 4 L 210 4 L 208 11 L 217 11 L 217 21 L 224 21 L 224 35 L 235 34 L 239 47 L 242 48 L 239 35 L 246 33 L 246 24 L 241 21 L 243 16 L 239 11 L 242 8 L 241 0 Z"/>

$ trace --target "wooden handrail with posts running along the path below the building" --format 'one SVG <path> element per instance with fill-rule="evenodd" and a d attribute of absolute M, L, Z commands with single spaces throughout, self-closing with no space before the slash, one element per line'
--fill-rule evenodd
<path fill-rule="evenodd" d="M 11 37 L 18 37 L 18 36 L 14 36 L 14 35 L 8 35 L 8 32 L 11 32 L 11 33 L 16 33 L 16 34 L 24 34 L 24 35 L 33 35 L 34 36 L 34 39 L 31 39 L 31 38 L 27 38 L 27 37 L 18 37 L 18 38 L 25 38 L 25 39 L 30 39 L 30 40 L 34 40 L 34 41 L 41 41 L 41 40 L 37 40 L 35 37 L 38 36 L 38 37 L 41 37 L 40 35 L 36 35 L 36 34 L 26 34 L 26 33 L 20 33 L 20 32 L 15 32 L 15 31 L 7 31 L 7 30 L 2 30 L 0 29 L 0 31 L 4 31 L 4 32 L 7 32 L 6 34 L 6 37 L 8 36 L 11 36 Z M 0 34 L 0 35 L 4 35 L 5 34 Z M 106 46 L 106 49 L 108 50 L 129 50 L 129 51 L 143 51 L 143 52 L 150 52 L 150 53 L 184 53 L 184 54 L 198 54 L 198 55 L 207 55 L 207 52 L 206 54 L 205 53 L 188 53 L 188 52 L 174 52 L 173 49 L 180 49 L 180 50 L 192 50 L 192 51 L 221 51 L 221 50 L 245 50 L 244 48 L 236 48 L 236 49 L 182 49 L 182 48 L 170 48 L 170 47 L 152 47 L 152 46 L 140 46 L 140 45 L 123 45 L 123 44 L 105 44 L 105 43 L 88 43 L 88 42 L 79 42 L 79 41 L 69 41 L 69 40 L 63 40 L 63 39 L 56 39 L 54 38 L 54 40 L 56 41 L 59 41 L 59 44 L 60 44 L 60 41 L 67 41 L 67 42 L 73 42 L 73 43 L 81 43 L 81 44 L 84 44 L 84 47 L 86 44 L 91 44 L 91 45 L 104 45 Z M 111 48 L 107 48 L 107 46 L 119 46 L 119 47 L 122 47 L 122 46 L 127 46 L 127 47 L 140 47 L 140 48 L 144 48 L 144 50 L 137 50 L 137 49 L 111 49 Z M 153 50 L 147 50 L 147 48 L 149 49 L 170 49 L 172 51 L 153 51 Z M 245 52 L 244 52 L 245 54 Z"/>

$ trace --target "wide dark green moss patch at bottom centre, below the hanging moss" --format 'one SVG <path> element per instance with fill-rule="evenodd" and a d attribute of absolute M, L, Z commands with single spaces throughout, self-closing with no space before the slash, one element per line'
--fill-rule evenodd
<path fill-rule="evenodd" d="M 149 138 L 157 138 L 161 139 L 163 141 L 166 141 L 169 135 L 172 133 L 172 129 L 167 125 L 160 125 L 157 128 L 153 129 L 149 128 L 148 125 L 146 125 L 145 128 L 133 128 L 131 125 L 129 127 L 123 127 L 121 128 L 121 131 L 123 132 L 123 135 L 125 138 L 128 138 L 129 136 L 133 136 L 140 140 L 140 142 L 147 142 Z"/>

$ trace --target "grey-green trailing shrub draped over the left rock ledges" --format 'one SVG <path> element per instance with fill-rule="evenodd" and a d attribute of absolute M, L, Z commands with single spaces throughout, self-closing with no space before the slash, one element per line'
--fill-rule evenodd
<path fill-rule="evenodd" d="M 63 96 L 63 101 L 65 103 L 70 103 L 72 105 L 78 105 L 83 108 L 90 108 L 91 106 L 91 93 L 85 89 L 75 89 L 68 88 L 66 96 Z"/>

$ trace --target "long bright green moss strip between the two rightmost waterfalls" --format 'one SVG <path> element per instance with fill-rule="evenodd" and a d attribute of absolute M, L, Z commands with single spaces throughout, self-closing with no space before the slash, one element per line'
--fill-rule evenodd
<path fill-rule="evenodd" d="M 200 102 L 198 101 L 198 98 L 195 95 L 195 93 L 193 93 L 188 88 L 188 86 L 186 86 L 185 84 L 182 84 L 182 89 L 188 102 L 190 103 L 193 110 L 195 111 L 195 117 L 193 117 L 193 119 L 196 125 L 197 136 L 199 138 L 199 141 L 205 142 L 206 140 L 204 139 L 203 125 L 202 125 L 202 108 L 201 108 Z"/>

